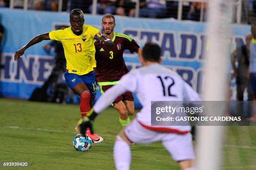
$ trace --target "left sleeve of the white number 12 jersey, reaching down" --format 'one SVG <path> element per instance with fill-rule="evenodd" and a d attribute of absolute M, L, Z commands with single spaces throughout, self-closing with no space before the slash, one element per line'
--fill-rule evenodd
<path fill-rule="evenodd" d="M 134 84 L 135 83 L 135 84 Z M 96 113 L 102 112 L 106 107 L 113 102 L 116 97 L 122 95 L 127 91 L 134 92 L 136 89 L 136 80 L 134 79 L 133 75 L 126 74 L 124 75 L 120 82 L 117 85 L 114 85 L 110 89 L 108 89 L 104 95 L 102 95 L 97 102 L 95 103 L 93 109 Z"/>

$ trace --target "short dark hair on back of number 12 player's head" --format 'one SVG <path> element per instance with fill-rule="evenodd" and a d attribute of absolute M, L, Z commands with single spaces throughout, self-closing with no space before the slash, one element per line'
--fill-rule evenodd
<path fill-rule="evenodd" d="M 161 57 L 161 47 L 153 42 L 147 42 L 142 49 L 142 57 L 146 61 L 158 62 Z"/>

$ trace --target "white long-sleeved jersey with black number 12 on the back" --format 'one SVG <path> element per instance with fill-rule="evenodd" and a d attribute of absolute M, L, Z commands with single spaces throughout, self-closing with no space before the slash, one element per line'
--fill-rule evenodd
<path fill-rule="evenodd" d="M 125 91 L 136 93 L 142 105 L 141 111 L 137 114 L 137 120 L 146 126 L 151 126 L 151 101 L 201 100 L 197 92 L 176 72 L 155 63 L 132 70 L 124 75 L 118 85 L 107 90 L 96 102 L 95 112 L 101 112 L 115 97 Z M 164 128 L 190 130 L 189 126 L 164 126 Z"/>

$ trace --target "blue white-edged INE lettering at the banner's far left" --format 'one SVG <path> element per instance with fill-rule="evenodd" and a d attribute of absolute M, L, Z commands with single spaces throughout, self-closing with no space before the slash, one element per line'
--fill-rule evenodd
<path fill-rule="evenodd" d="M 54 65 L 53 57 L 41 55 L 23 56 L 13 60 L 14 53 L 3 53 L 4 69 L 1 80 L 4 82 L 25 82 L 28 84 L 42 84 L 51 74 Z"/>

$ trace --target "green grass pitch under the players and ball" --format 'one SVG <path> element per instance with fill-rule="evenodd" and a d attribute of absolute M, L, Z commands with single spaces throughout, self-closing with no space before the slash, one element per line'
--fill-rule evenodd
<path fill-rule="evenodd" d="M 79 105 L 0 99 L 0 162 L 28 162 L 27 169 L 42 170 L 115 169 L 113 145 L 121 130 L 118 113 L 108 108 L 97 118 L 95 131 L 104 142 L 88 152 L 76 151 L 72 145 L 79 118 Z M 136 144 L 131 150 L 131 170 L 179 170 L 161 143 Z M 256 127 L 228 127 L 223 151 L 224 170 L 255 170 Z"/>

